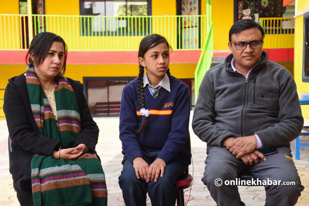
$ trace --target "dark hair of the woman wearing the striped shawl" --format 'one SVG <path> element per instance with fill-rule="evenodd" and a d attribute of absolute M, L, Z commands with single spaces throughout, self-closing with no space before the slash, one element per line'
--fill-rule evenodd
<path fill-rule="evenodd" d="M 34 64 L 34 65 L 40 65 L 43 63 L 49 48 L 53 44 L 54 41 L 61 42 L 63 44 L 63 48 L 65 50 L 64 52 L 64 61 L 63 66 L 61 68 L 62 73 L 64 74 L 66 72 L 66 57 L 68 53 L 68 47 L 64 40 L 61 38 L 61 36 L 58 36 L 51 32 L 42 32 L 37 34 L 33 37 L 29 49 L 26 55 L 26 63 L 28 64 Z M 33 54 L 33 60 L 31 59 L 31 56 Z M 29 58 L 28 58 L 29 56 Z M 29 63 L 28 63 L 29 61 Z"/>

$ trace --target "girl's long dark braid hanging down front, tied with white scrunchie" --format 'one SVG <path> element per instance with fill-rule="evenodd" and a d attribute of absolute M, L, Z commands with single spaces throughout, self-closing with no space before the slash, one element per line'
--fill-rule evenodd
<path fill-rule="evenodd" d="M 145 108 L 145 101 L 144 101 L 144 67 L 139 64 L 139 74 L 137 80 L 137 87 L 138 87 L 138 101 L 139 105 L 142 108 Z M 142 116 L 142 125 L 136 132 L 142 133 L 142 131 L 147 127 L 147 117 L 145 115 Z"/>

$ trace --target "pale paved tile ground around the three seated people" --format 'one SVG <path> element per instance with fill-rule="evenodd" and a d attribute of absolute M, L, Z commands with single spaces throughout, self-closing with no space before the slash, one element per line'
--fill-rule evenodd
<path fill-rule="evenodd" d="M 192 119 L 192 115 L 191 115 Z M 108 205 L 123 206 L 121 189 L 118 185 L 118 176 L 121 172 L 121 141 L 119 140 L 119 118 L 118 117 L 100 117 L 95 118 L 99 125 L 100 135 L 97 145 L 97 152 L 102 160 L 103 169 L 106 175 L 106 184 L 108 188 Z M 309 125 L 309 121 L 305 122 Z M 190 123 L 191 125 L 191 123 Z M 185 199 L 188 200 L 188 206 L 214 206 L 216 203 L 211 198 L 209 191 L 201 182 L 204 172 L 204 161 L 206 158 L 206 143 L 203 143 L 196 137 L 190 126 L 191 147 L 193 164 L 189 166 L 189 172 L 193 174 L 193 186 L 191 191 L 185 191 Z M 6 121 L 0 121 L 0 206 L 1 205 L 19 205 L 16 193 L 13 189 L 13 181 L 9 173 L 8 149 L 7 149 L 8 131 Z M 309 138 L 304 138 L 309 142 Z M 294 143 L 292 143 L 294 148 Z M 293 150 L 294 153 L 294 150 Z M 294 160 L 298 173 L 301 176 L 302 184 L 305 190 L 298 199 L 296 205 L 309 205 L 309 147 L 301 149 L 301 160 Z M 193 171 L 194 167 L 194 171 Z M 265 204 L 265 190 L 262 186 L 239 187 L 240 196 L 247 206 L 263 206 Z M 150 200 L 147 201 L 150 205 Z"/>

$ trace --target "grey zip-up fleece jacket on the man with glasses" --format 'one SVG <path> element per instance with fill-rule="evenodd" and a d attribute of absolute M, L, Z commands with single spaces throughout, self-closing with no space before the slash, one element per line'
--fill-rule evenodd
<path fill-rule="evenodd" d="M 226 137 L 257 134 L 264 149 L 290 147 L 303 127 L 293 76 L 263 51 L 246 79 L 233 71 L 232 58 L 206 72 L 193 114 L 194 133 L 212 146 L 222 147 Z"/>

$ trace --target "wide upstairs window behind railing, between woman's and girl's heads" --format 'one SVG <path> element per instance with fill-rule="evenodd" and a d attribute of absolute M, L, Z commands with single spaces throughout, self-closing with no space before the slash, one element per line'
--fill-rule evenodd
<path fill-rule="evenodd" d="M 80 0 L 81 35 L 138 36 L 149 32 L 151 0 Z M 147 25 L 147 26 L 146 26 Z"/>

